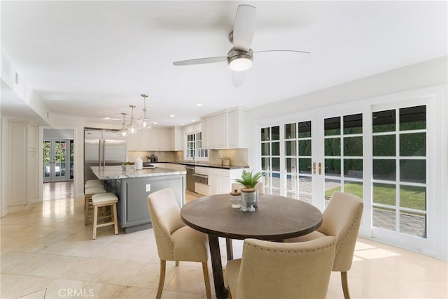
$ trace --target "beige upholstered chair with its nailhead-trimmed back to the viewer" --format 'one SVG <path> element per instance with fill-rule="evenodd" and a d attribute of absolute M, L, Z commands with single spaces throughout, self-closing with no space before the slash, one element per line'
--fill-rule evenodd
<path fill-rule="evenodd" d="M 225 270 L 229 298 L 325 298 L 335 238 L 281 243 L 246 239 L 241 258 Z"/>

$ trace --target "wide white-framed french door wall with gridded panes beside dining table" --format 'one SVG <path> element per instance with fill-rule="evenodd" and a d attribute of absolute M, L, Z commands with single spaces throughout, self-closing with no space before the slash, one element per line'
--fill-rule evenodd
<path fill-rule="evenodd" d="M 419 99 L 333 108 L 262 125 L 265 192 L 321 210 L 334 191 L 355 194 L 364 203 L 361 235 L 432 250 L 433 110 L 430 101 Z"/>

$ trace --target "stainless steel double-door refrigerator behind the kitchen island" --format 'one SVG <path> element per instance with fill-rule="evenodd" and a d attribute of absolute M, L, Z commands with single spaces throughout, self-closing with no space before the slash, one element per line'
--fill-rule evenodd
<path fill-rule="evenodd" d="M 84 130 L 84 182 L 95 180 L 90 166 L 121 165 L 126 161 L 126 138 L 117 131 Z"/>

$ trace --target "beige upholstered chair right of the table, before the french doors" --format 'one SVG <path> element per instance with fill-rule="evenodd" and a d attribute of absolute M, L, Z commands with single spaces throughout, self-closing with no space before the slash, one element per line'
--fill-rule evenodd
<path fill-rule="evenodd" d="M 322 225 L 312 233 L 288 239 L 285 242 L 303 242 L 332 235 L 336 238 L 336 255 L 333 271 L 341 272 L 344 298 L 349 299 L 347 271 L 351 268 L 353 253 L 363 214 L 363 201 L 358 196 L 334 192 L 322 213 Z"/>

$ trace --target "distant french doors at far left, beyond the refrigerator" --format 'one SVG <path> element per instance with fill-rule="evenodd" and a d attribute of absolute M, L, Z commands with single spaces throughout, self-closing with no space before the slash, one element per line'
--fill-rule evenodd
<path fill-rule="evenodd" d="M 43 140 L 43 182 L 73 179 L 73 140 Z"/>

